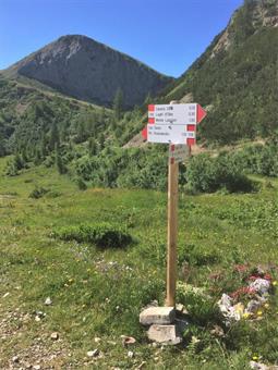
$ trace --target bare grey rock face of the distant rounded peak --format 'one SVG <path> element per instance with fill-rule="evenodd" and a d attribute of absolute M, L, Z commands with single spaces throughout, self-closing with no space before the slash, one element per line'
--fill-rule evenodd
<path fill-rule="evenodd" d="M 170 77 L 86 36 L 60 37 L 10 69 L 77 99 L 110 104 L 118 89 L 125 106 L 156 95 Z"/>

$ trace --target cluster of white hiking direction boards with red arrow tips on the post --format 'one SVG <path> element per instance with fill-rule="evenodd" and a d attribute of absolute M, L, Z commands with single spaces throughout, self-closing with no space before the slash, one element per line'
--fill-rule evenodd
<path fill-rule="evenodd" d="M 148 124 L 142 135 L 148 143 L 196 144 L 196 125 L 206 115 L 197 103 L 149 104 Z"/>

